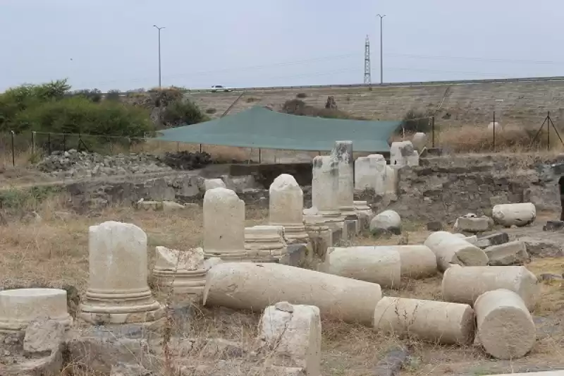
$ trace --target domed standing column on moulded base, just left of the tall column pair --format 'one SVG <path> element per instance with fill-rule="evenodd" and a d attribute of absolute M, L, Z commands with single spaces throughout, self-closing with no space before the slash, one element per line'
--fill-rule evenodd
<path fill-rule="evenodd" d="M 269 189 L 269 224 L 283 226 L 288 243 L 307 243 L 305 232 L 304 198 L 295 178 L 281 174 Z"/>

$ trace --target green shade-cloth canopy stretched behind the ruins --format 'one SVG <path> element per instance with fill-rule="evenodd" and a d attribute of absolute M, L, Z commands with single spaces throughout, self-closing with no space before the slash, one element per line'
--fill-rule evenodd
<path fill-rule="evenodd" d="M 161 141 L 327 151 L 335 141 L 353 141 L 355 152 L 389 152 L 388 139 L 401 121 L 323 119 L 253 107 L 238 114 L 159 131 Z"/>

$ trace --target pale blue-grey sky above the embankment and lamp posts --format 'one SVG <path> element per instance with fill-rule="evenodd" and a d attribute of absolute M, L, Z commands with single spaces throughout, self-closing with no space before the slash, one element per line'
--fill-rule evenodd
<path fill-rule="evenodd" d="M 562 0 L 0 0 L 0 91 L 564 75 Z"/>

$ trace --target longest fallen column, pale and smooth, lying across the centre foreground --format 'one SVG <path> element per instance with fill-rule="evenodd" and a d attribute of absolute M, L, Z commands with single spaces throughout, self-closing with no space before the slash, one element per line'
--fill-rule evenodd
<path fill-rule="evenodd" d="M 321 315 L 372 322 L 378 284 L 280 264 L 226 262 L 209 269 L 204 305 L 263 310 L 272 302 L 316 305 Z"/>

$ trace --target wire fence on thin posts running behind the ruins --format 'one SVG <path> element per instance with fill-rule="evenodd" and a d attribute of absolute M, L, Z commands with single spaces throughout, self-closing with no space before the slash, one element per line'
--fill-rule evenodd
<path fill-rule="evenodd" d="M 550 112 L 539 119 L 532 128 L 501 127 L 496 113 L 491 123 L 484 126 L 437 127 L 434 116 L 410 119 L 423 121 L 429 135 L 427 149 L 447 149 L 450 152 L 532 152 L 540 150 L 564 150 L 564 142 Z M 400 130 L 391 141 L 410 140 L 413 130 Z M 354 148 L 354 145 L 353 145 Z M 328 152 L 271 150 L 251 147 L 189 144 L 160 141 L 154 138 L 129 138 L 118 136 L 85 135 L 72 133 L 0 133 L 0 165 L 29 166 L 56 151 L 78 150 L 103 155 L 165 152 L 207 152 L 214 162 L 226 163 L 296 163 L 311 162 L 317 155 Z M 369 152 L 355 152 L 354 157 Z"/>

